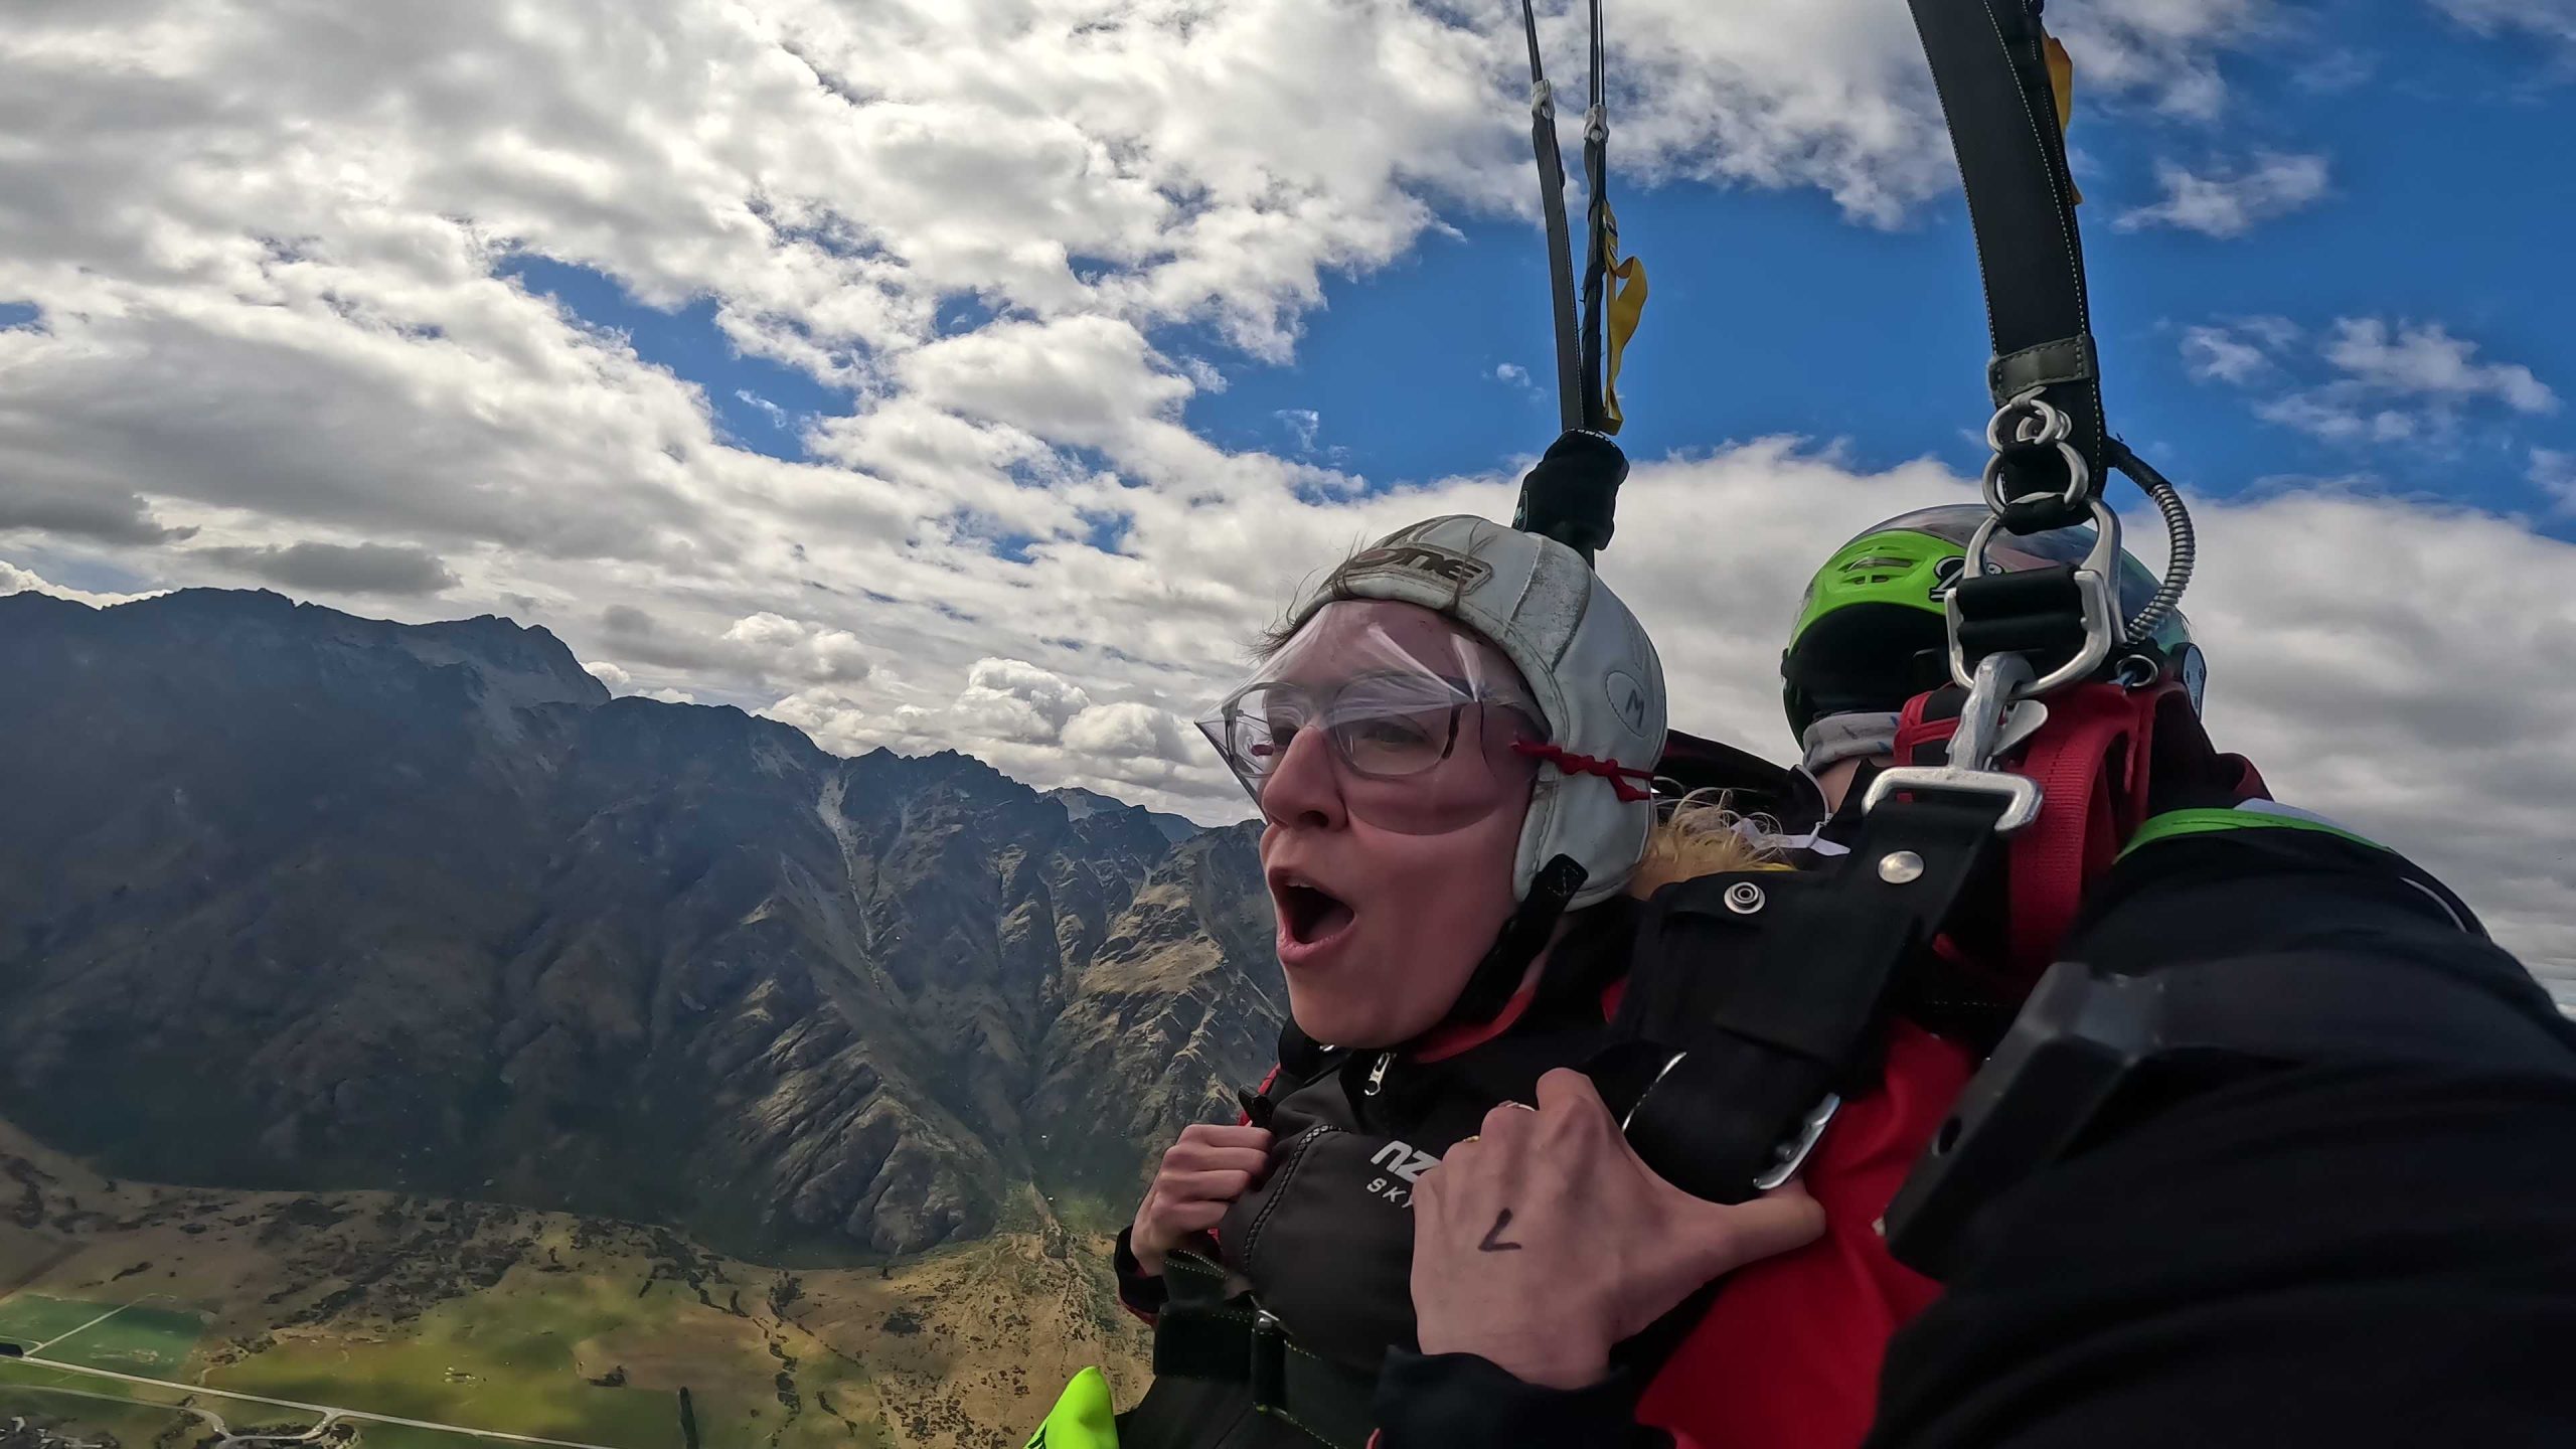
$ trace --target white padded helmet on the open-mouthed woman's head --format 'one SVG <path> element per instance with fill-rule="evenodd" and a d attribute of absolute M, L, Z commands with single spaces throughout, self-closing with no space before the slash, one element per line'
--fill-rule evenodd
<path fill-rule="evenodd" d="M 1571 908 L 1618 895 L 1654 828 L 1646 781 L 1664 753 L 1664 663 L 1592 565 L 1556 539 L 1455 513 L 1396 529 L 1355 554 L 1296 624 L 1337 598 L 1417 603 L 1512 660 L 1553 745 L 1520 828 L 1512 897 L 1528 900 L 1556 856 L 1584 871 Z"/>

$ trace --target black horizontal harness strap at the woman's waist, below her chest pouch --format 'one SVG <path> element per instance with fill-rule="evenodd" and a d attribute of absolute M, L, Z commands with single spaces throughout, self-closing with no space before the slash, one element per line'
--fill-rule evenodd
<path fill-rule="evenodd" d="M 1365 1449 L 1376 1374 L 1321 1359 L 1260 1312 L 1226 1297 L 1226 1271 L 1195 1253 L 1162 1266 L 1170 1302 L 1154 1318 L 1154 1377 L 1244 1385 L 1252 1408 L 1329 1449 Z"/>

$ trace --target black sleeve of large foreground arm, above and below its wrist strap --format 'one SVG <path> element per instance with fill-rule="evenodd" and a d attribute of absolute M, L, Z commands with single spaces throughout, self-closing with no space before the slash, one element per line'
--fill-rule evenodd
<path fill-rule="evenodd" d="M 2494 1049 L 2161 1083 L 1981 1209 L 1868 1446 L 2576 1444 L 2576 1057 L 2548 995 L 2331 835 L 2154 846 L 2105 884 L 2079 959 L 2344 962 L 2483 1003 Z"/>

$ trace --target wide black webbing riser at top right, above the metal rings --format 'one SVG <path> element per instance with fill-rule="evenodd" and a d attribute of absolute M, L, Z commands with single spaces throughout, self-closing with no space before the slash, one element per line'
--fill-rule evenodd
<path fill-rule="evenodd" d="M 2040 0 L 1909 0 L 1922 34 L 1950 147 L 1968 188 L 1968 224 L 1986 284 L 1986 330 L 1994 358 L 1986 389 L 1994 405 L 2043 389 L 2074 423 L 2069 443 L 2102 487 L 2102 382 L 2092 315 L 2084 297 L 2084 242 L 2076 235 L 2076 191 L 2066 173 L 2056 90 L 2048 83 Z M 2032 459 L 2035 467 L 2045 467 Z M 2007 480 L 2009 482 L 2009 480 Z M 2007 498 L 2038 492 L 2007 487 Z M 2063 485 L 2063 474 L 2058 480 Z M 2014 531 L 2084 521 L 2084 508 L 2058 505 L 2053 521 L 2014 518 Z"/>

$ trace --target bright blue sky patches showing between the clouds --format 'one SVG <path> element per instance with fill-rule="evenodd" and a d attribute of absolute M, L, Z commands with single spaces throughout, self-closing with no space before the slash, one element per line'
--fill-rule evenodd
<path fill-rule="evenodd" d="M 2205 495 L 2334 480 L 2576 536 L 2576 513 L 2532 482 L 2532 449 L 2576 451 L 2576 302 L 2561 284 L 2576 173 L 2548 155 L 2550 137 L 2576 134 L 2566 64 L 2421 5 L 2372 5 L 2367 26 L 2236 52 L 2223 75 L 2223 124 L 2177 121 L 2087 90 L 2079 54 L 2074 150 L 2112 425 Z M 2233 237 L 2117 224 L 2159 201 L 2159 160 L 2241 170 L 2267 152 L 2324 157 L 2324 196 Z M 1814 188 L 1613 186 L 1654 281 L 1623 389 L 1633 456 L 1795 433 L 1842 443 L 1862 469 L 1922 454 L 1976 467 L 1984 322 L 1955 193 L 1888 229 Z M 853 407 L 848 389 L 734 351 L 711 302 L 659 312 L 541 255 L 502 271 L 703 387 L 744 449 L 801 456 L 806 420 Z M 940 330 L 961 330 L 987 309 L 956 294 L 943 317 Z M 2187 330 L 2246 317 L 2287 320 L 2298 340 L 2249 387 L 2195 379 Z M 2421 431 L 2432 436 L 2396 443 L 2259 418 L 2257 402 L 2334 379 L 2318 348 L 2339 320 L 2375 320 L 2391 338 L 2434 327 L 2470 343 L 2473 366 L 2530 369 L 2553 405 L 2468 397 Z M 1515 219 L 1453 206 L 1391 266 L 1332 276 L 1293 361 L 1244 356 L 1198 325 L 1151 340 L 1221 371 L 1226 387 L 1185 410 L 1200 436 L 1370 485 L 1499 469 L 1553 436 L 1543 248 Z"/>

